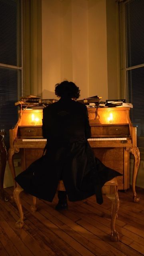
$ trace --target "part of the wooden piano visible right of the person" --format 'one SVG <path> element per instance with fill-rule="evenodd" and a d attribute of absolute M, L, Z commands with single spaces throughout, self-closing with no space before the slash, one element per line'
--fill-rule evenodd
<path fill-rule="evenodd" d="M 92 138 L 89 139 L 94 153 L 106 166 L 117 170 L 123 176 L 117 177 L 118 189 L 130 187 L 130 153 L 134 156 L 132 189 L 134 201 L 135 183 L 140 163 L 140 152 L 137 147 L 136 127 L 132 126 L 129 116 L 130 108 L 88 108 Z"/>

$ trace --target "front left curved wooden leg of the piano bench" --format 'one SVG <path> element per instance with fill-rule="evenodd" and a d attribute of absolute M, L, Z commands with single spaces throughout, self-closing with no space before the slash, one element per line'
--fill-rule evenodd
<path fill-rule="evenodd" d="M 14 200 L 16 202 L 16 205 L 18 206 L 18 210 L 20 213 L 20 219 L 16 222 L 16 228 L 22 228 L 24 225 L 24 212 L 22 210 L 22 203 L 20 200 L 20 194 L 23 191 L 23 188 L 21 188 L 19 185 L 14 189 Z"/>

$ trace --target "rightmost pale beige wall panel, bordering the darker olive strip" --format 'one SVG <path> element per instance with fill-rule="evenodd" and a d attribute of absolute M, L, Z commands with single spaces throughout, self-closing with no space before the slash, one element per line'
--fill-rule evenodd
<path fill-rule="evenodd" d="M 88 1 L 88 86 L 89 94 L 108 96 L 106 1 Z"/>

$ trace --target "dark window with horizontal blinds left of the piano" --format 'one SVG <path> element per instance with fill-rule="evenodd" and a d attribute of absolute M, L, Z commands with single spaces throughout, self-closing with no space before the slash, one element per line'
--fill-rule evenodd
<path fill-rule="evenodd" d="M 18 121 L 14 105 L 23 93 L 22 67 L 22 1 L 0 0 L 0 129 L 6 132 Z"/>

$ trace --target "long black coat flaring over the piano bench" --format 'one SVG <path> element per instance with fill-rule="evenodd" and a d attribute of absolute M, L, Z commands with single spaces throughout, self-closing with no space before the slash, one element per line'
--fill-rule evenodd
<path fill-rule="evenodd" d="M 101 204 L 102 186 L 121 174 L 95 158 L 87 141 L 91 132 L 86 106 L 61 98 L 44 108 L 42 123 L 46 154 L 19 174 L 16 182 L 26 192 L 52 202 L 62 179 L 70 201 L 96 194 Z"/>

